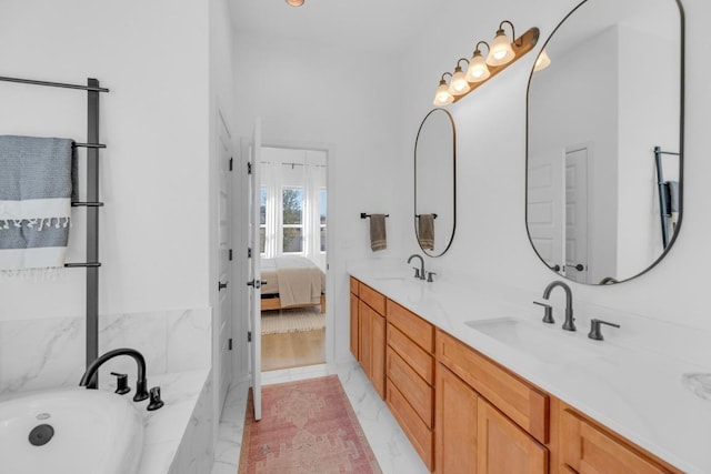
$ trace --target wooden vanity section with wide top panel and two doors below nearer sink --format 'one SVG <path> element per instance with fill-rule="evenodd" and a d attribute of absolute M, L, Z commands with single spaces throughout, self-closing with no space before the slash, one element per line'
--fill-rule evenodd
<path fill-rule="evenodd" d="M 438 473 L 548 474 L 549 396 L 437 332 Z"/>

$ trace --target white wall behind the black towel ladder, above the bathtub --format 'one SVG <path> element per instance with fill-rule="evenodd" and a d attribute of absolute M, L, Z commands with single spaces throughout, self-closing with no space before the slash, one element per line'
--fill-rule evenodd
<path fill-rule="evenodd" d="M 2 75 L 86 83 L 101 95 L 100 313 L 206 307 L 208 9 L 197 0 L 6 0 Z M 0 131 L 86 141 L 86 93 L 0 82 Z M 83 180 L 83 177 L 82 177 Z M 83 261 L 83 211 L 69 259 Z M 84 272 L 0 283 L 0 320 L 84 312 Z"/>

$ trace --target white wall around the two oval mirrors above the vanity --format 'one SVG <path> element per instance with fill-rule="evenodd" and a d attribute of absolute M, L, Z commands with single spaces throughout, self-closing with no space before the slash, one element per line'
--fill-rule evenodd
<path fill-rule="evenodd" d="M 671 1 L 671 0 L 670 0 Z M 398 70 L 412 74 L 402 82 L 400 152 L 401 194 L 410 195 L 410 150 L 440 74 L 455 60 L 470 54 L 478 40 L 490 40 L 502 19 L 510 19 L 517 32 L 537 26 L 542 39 L 578 2 L 554 0 L 531 3 L 503 0 L 483 9 L 457 0 L 457 14 L 443 14 L 447 24 L 424 31 L 412 44 Z M 705 131 L 711 121 L 711 74 L 702 41 L 711 19 L 711 4 L 683 2 L 687 13 L 687 110 L 684 214 L 680 235 L 667 258 L 649 273 L 612 286 L 571 283 L 575 301 L 582 301 L 655 320 L 692 327 L 711 327 L 708 314 L 707 269 L 711 265 L 711 161 Z M 542 42 L 540 43 L 542 44 Z M 475 278 L 529 291 L 541 291 L 555 275 L 541 264 L 529 243 L 525 223 L 525 90 L 535 52 L 530 53 L 493 80 L 480 87 L 450 110 L 458 130 L 459 201 L 457 235 L 450 252 L 430 260 L 441 275 L 467 272 Z M 410 174 L 408 174 L 410 173 Z M 475 185 L 474 185 L 475 184 Z M 408 199 L 398 201 L 400 213 L 411 209 Z M 418 249 L 411 226 L 403 226 L 405 254 Z M 346 305 L 346 302 L 342 303 Z"/>

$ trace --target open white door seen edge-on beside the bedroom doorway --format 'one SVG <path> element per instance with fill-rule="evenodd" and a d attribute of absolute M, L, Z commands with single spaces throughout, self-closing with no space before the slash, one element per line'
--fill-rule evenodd
<path fill-rule="evenodd" d="M 261 321 L 261 272 L 259 268 L 259 205 L 260 205 L 260 181 L 259 162 L 261 160 L 261 121 L 254 121 L 254 134 L 250 149 L 249 164 L 249 321 L 251 332 L 251 363 L 252 372 L 252 400 L 254 402 L 254 420 L 262 417 L 262 321 Z"/>

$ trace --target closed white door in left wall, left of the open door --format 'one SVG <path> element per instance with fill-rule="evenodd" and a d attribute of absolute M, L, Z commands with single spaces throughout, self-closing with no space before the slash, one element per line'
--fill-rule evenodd
<path fill-rule="evenodd" d="M 230 177 L 232 145 L 230 132 L 224 122 L 218 118 L 218 153 L 220 161 L 220 185 L 218 190 L 218 307 L 214 327 L 216 366 L 214 377 L 214 414 L 219 420 L 224 405 L 227 391 L 232 380 L 232 357 L 230 354 L 230 336 L 232 334 L 232 286 L 230 285 L 230 249 L 232 242 L 231 203 L 232 181 Z"/>

